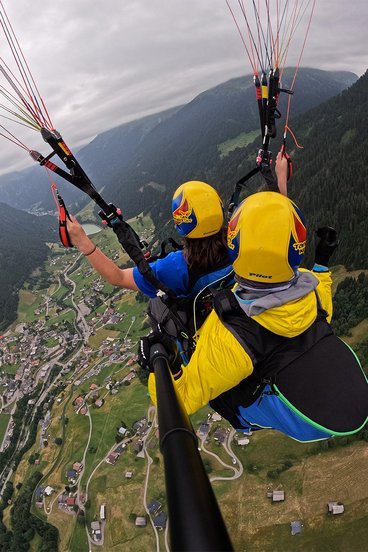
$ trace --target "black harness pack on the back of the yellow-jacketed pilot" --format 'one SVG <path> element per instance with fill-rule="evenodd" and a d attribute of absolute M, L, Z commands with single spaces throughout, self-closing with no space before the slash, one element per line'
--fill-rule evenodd
<path fill-rule="evenodd" d="M 235 428 L 241 427 L 239 407 L 262 401 L 265 392 L 326 433 L 350 435 L 368 421 L 367 378 L 355 353 L 333 333 L 315 294 L 315 321 L 291 338 L 246 316 L 230 290 L 216 294 L 217 315 L 254 366 L 251 376 L 210 402 Z"/>

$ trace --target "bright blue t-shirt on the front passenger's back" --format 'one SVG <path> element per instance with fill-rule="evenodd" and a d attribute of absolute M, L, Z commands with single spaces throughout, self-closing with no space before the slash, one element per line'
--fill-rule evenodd
<path fill-rule="evenodd" d="M 188 294 L 192 295 L 199 291 L 197 283 L 192 289 L 189 289 L 189 270 L 182 251 L 173 251 L 163 259 L 157 259 L 154 263 L 150 263 L 150 266 L 155 277 L 170 288 L 177 297 L 188 297 Z M 232 266 L 229 264 L 202 276 L 198 280 L 198 284 L 203 288 L 218 278 L 224 278 L 230 272 L 232 272 Z M 137 267 L 133 268 L 133 278 L 142 293 L 150 298 L 156 297 L 155 287 L 147 282 Z"/>

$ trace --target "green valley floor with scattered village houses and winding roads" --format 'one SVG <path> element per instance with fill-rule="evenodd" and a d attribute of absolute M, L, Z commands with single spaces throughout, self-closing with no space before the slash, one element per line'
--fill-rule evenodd
<path fill-rule="evenodd" d="M 126 261 L 106 232 L 97 240 L 118 263 Z M 0 337 L 1 492 L 12 487 L 12 507 L 35 477 L 31 513 L 58 529 L 62 551 L 124 550 L 127 542 L 137 550 L 167 547 L 157 411 L 136 362 L 139 336 L 147 332 L 145 304 L 134 293 L 105 284 L 73 250 L 50 246 L 47 274 L 22 290 L 18 320 Z M 272 519 L 290 543 L 312 519 L 324 527 L 353 515 L 365 497 L 361 489 L 352 502 L 318 444 L 276 432 L 238 433 L 209 407 L 192 423 L 225 521 L 242 528 L 240 547 L 253 523 L 266 535 Z M 360 443 L 347 451 L 350 462 L 367 469 Z M 334 466 L 343 465 L 337 450 Z M 258 505 L 251 512 L 250 493 Z M 3 519 L 10 529 L 9 512 Z"/>

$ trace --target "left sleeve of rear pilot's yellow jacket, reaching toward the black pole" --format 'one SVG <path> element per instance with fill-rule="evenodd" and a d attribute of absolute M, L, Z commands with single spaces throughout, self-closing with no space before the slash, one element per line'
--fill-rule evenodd
<path fill-rule="evenodd" d="M 253 372 L 253 364 L 235 337 L 212 311 L 198 332 L 198 343 L 190 362 L 183 366 L 183 375 L 174 385 L 188 414 L 193 414 L 211 399 L 235 387 Z M 148 381 L 154 404 L 156 385 L 154 375 Z"/>

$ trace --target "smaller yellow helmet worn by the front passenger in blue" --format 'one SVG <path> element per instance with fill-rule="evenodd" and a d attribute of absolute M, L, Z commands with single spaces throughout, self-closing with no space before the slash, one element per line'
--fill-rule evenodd
<path fill-rule="evenodd" d="M 205 182 L 192 180 L 176 190 L 172 200 L 175 228 L 187 238 L 205 238 L 217 234 L 224 223 L 222 200 Z"/>

